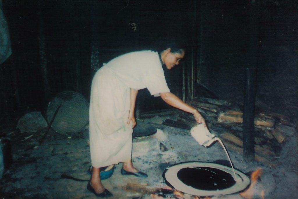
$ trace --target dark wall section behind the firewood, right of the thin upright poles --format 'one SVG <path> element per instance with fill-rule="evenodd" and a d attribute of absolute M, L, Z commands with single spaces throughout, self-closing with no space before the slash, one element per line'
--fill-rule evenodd
<path fill-rule="evenodd" d="M 218 98 L 243 101 L 244 70 L 257 57 L 257 106 L 297 118 L 297 2 L 256 1 L 249 4 L 207 1 L 202 5 L 200 82 Z M 258 6 L 258 8 L 257 8 Z M 258 10 L 258 12 L 256 12 Z M 257 24 L 249 25 L 250 17 Z M 250 49 L 257 38 L 257 54 Z"/>

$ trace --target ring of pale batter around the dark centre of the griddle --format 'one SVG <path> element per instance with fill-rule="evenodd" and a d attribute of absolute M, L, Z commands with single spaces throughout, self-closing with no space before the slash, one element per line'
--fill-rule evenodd
<path fill-rule="evenodd" d="M 247 177 L 244 173 L 242 173 L 239 170 L 235 169 L 236 173 L 236 183 L 229 188 L 221 189 L 221 190 L 202 190 L 202 189 L 195 189 L 191 186 L 188 186 L 184 184 L 177 176 L 177 173 L 179 170 L 187 167 L 209 167 L 209 168 L 215 168 L 222 171 L 225 171 L 226 173 L 229 173 L 231 177 L 234 176 L 234 172 L 232 168 L 211 163 L 211 162 L 182 162 L 179 164 L 175 164 L 173 166 L 170 166 L 166 169 L 164 173 L 165 180 L 172 185 L 175 189 L 190 194 L 190 195 L 197 195 L 197 196 L 214 196 L 214 195 L 227 195 L 227 194 L 233 194 L 236 192 L 240 192 L 244 190 L 246 187 L 250 184 L 250 179 Z M 199 181 L 204 181 L 204 179 L 198 179 Z"/>

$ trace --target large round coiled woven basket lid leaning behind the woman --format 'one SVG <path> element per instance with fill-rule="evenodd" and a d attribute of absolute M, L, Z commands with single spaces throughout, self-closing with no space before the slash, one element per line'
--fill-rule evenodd
<path fill-rule="evenodd" d="M 59 108 L 60 106 L 60 108 Z M 48 104 L 46 117 L 52 121 L 59 108 L 51 127 L 59 132 L 79 132 L 89 122 L 89 103 L 83 95 L 74 91 L 58 93 Z"/>

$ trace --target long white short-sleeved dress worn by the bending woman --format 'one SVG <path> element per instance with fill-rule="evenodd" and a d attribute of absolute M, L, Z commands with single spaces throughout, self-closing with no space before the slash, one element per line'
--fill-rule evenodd
<path fill-rule="evenodd" d="M 112 59 L 95 74 L 89 110 L 90 153 L 93 167 L 131 159 L 132 128 L 128 126 L 130 88 L 147 88 L 151 95 L 170 92 L 159 55 L 137 51 Z"/>

